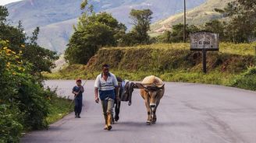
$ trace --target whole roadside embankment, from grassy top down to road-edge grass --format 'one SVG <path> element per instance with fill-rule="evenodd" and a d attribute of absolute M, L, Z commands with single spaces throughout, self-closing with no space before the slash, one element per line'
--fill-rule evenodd
<path fill-rule="evenodd" d="M 121 78 L 141 80 L 157 75 L 168 82 L 196 82 L 254 89 L 256 82 L 255 44 L 220 44 L 207 54 L 208 73 L 202 73 L 202 54 L 189 44 L 152 44 L 137 47 L 101 48 L 87 65 L 69 65 L 48 78 L 94 79 L 101 65 L 108 63 Z M 254 85 L 251 85 L 254 84 Z"/>

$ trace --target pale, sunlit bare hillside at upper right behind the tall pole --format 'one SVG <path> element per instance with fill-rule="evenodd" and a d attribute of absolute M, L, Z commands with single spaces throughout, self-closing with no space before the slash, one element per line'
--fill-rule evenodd
<path fill-rule="evenodd" d="M 215 12 L 214 9 L 223 9 L 227 3 L 232 1 L 233 0 L 208 0 L 207 2 L 204 2 L 204 4 L 188 10 L 187 24 L 194 24 L 198 26 L 211 21 L 212 19 L 221 19 L 222 16 L 219 12 Z M 151 33 L 159 33 L 158 31 L 164 26 L 171 27 L 178 23 L 183 23 L 183 12 L 154 23 L 151 26 Z"/>

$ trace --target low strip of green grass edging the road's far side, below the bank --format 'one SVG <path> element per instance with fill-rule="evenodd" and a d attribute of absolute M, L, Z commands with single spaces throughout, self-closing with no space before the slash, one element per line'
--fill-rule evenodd
<path fill-rule="evenodd" d="M 76 67 L 80 67 L 84 65 L 76 65 Z M 72 66 L 74 68 L 74 65 Z M 62 73 L 44 73 L 44 76 L 49 79 L 75 79 L 75 78 L 84 78 L 84 79 L 94 79 L 100 72 L 91 72 L 84 70 L 80 73 L 80 75 L 76 75 L 76 68 L 74 68 L 73 72 L 62 72 Z M 65 71 L 65 69 L 64 69 Z M 203 72 L 188 72 L 186 70 L 177 70 L 172 72 L 127 72 L 127 71 L 119 71 L 112 70 L 112 73 L 119 76 L 123 79 L 129 79 L 132 81 L 141 81 L 144 77 L 148 75 L 156 75 L 159 78 L 162 78 L 165 82 L 190 82 L 190 83 L 204 83 L 204 84 L 212 84 L 212 85 L 226 85 L 226 86 L 234 86 L 241 87 L 241 85 L 235 85 L 234 81 L 237 78 L 242 80 L 241 75 L 239 73 L 226 73 L 219 72 L 218 70 L 208 72 L 208 74 L 204 74 Z M 248 88 L 244 88 L 248 89 Z M 249 88 L 250 89 L 250 88 Z"/>

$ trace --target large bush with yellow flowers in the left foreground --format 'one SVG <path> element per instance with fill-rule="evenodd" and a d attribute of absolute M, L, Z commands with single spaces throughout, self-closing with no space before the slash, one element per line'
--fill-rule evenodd
<path fill-rule="evenodd" d="M 40 80 L 30 75 L 31 67 L 0 40 L 0 133 L 1 142 L 18 142 L 22 130 L 48 126 L 48 92 Z"/>

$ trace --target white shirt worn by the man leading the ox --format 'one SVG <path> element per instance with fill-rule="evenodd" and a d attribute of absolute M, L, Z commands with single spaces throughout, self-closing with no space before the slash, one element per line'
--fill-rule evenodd
<path fill-rule="evenodd" d="M 116 86 L 118 86 L 116 75 L 112 74 L 111 72 L 109 72 L 107 81 L 105 81 L 103 79 L 103 75 L 100 74 L 97 76 L 94 83 L 94 87 L 101 91 L 113 90 Z"/>

